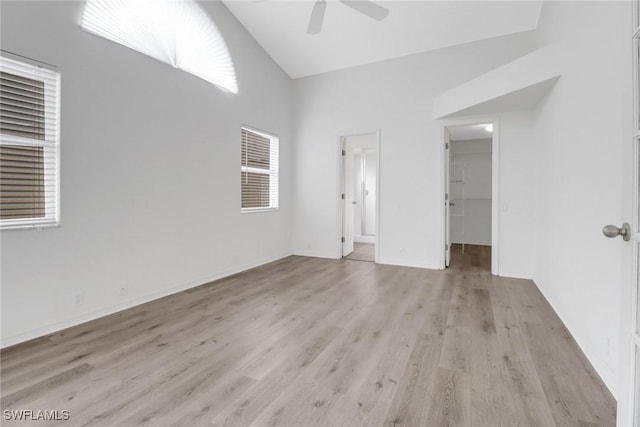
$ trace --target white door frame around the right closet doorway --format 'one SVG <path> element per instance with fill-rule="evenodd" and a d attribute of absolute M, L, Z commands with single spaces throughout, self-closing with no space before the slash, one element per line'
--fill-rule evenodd
<path fill-rule="evenodd" d="M 500 275 L 500 118 L 498 116 L 473 116 L 455 119 L 440 120 L 438 127 L 440 141 L 440 165 L 441 183 L 440 197 L 438 205 L 440 211 L 440 268 L 445 267 L 447 233 L 445 227 L 451 226 L 451 221 L 447 221 L 447 208 L 445 200 L 447 182 L 449 181 L 449 171 L 446 167 L 448 150 L 445 148 L 445 128 L 454 126 L 479 125 L 493 123 L 493 133 L 491 135 L 491 274 Z"/>

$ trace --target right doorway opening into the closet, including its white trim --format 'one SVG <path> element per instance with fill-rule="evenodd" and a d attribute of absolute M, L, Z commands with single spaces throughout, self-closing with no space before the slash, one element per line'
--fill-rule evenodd
<path fill-rule="evenodd" d="M 445 267 L 497 268 L 496 121 L 444 126 Z"/>

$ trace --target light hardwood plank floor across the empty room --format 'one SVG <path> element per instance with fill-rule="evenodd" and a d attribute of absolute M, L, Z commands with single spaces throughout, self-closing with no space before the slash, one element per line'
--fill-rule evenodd
<path fill-rule="evenodd" d="M 1 406 L 73 426 L 615 425 L 535 285 L 488 260 L 289 257 L 3 350 Z"/>

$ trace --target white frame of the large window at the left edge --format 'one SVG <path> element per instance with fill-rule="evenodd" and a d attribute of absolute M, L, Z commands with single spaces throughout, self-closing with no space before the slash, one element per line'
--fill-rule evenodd
<path fill-rule="evenodd" d="M 38 147 L 43 151 L 44 216 L 1 219 L 0 230 L 43 229 L 60 226 L 60 73 L 56 67 L 2 50 L 0 70 L 32 80 L 42 81 L 44 105 L 53 112 L 44 114 L 44 139 L 28 138 L 0 132 L 0 145 Z M 46 107 L 45 107 L 46 108 Z M 46 172 L 50 165 L 52 172 Z"/>

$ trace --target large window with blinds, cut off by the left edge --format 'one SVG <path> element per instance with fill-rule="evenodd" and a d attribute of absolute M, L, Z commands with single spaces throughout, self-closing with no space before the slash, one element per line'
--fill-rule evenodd
<path fill-rule="evenodd" d="M 0 228 L 58 223 L 57 72 L 0 56 Z"/>

